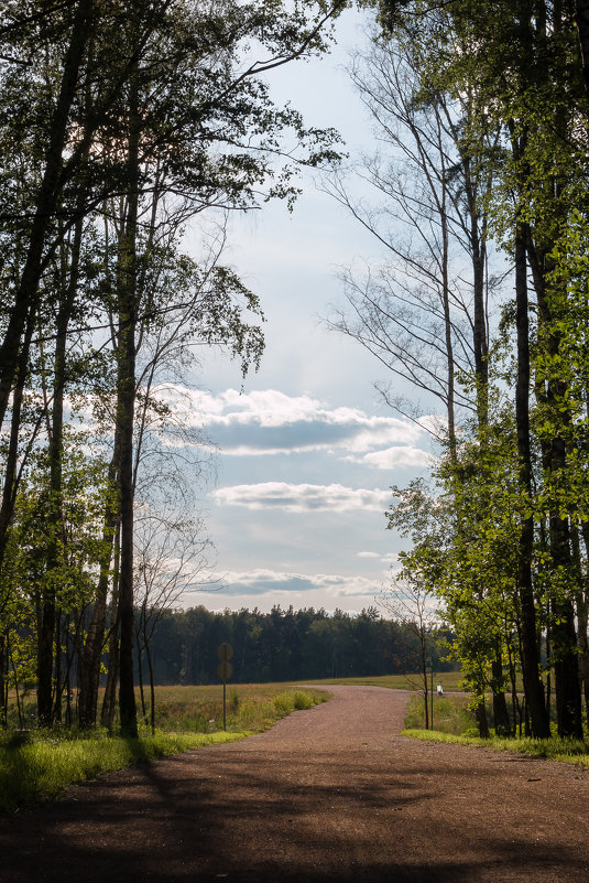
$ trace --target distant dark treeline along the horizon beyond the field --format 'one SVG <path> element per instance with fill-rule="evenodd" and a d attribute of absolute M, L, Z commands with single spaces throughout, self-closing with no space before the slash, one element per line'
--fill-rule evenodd
<path fill-rule="evenodd" d="M 418 642 L 411 628 L 384 620 L 375 607 L 351 616 L 313 607 L 212 613 L 198 606 L 168 612 L 159 620 L 150 644 L 155 682 L 216 682 L 216 650 L 223 642 L 233 648 L 232 681 L 237 683 L 419 670 Z M 436 671 L 451 667 L 443 661 L 445 653 L 441 640 L 432 644 Z M 146 679 L 144 656 L 142 667 Z"/>

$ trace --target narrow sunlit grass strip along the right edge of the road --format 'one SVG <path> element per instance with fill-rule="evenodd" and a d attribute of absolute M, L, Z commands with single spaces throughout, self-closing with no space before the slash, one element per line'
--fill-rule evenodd
<path fill-rule="evenodd" d="M 423 742 L 445 742 L 454 745 L 475 745 L 492 751 L 510 751 L 532 757 L 576 764 L 589 768 L 589 740 L 575 739 L 478 739 L 471 735 L 440 733 L 436 730 L 403 730 L 402 735 L 421 739 Z"/>

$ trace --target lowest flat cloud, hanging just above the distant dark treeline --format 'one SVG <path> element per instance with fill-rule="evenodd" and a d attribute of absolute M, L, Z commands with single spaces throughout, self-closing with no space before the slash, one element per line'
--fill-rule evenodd
<path fill-rule="evenodd" d="M 381 590 L 379 581 L 366 577 L 287 573 L 262 568 L 226 573 L 220 581 L 220 591 L 230 595 L 297 595 L 321 591 L 330 599 L 374 597 Z"/>

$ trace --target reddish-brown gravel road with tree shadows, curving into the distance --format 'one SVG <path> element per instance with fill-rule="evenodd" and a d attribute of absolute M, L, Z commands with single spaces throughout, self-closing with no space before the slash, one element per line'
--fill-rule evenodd
<path fill-rule="evenodd" d="M 589 881 L 589 774 L 404 739 L 405 693 L 334 693 L 4 818 L 1 883 Z"/>

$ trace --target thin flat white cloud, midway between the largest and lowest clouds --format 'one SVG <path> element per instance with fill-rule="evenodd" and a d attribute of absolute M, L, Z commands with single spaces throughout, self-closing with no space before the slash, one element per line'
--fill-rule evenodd
<path fill-rule="evenodd" d="M 288 484 L 262 482 L 219 487 L 212 498 L 226 506 L 248 509 L 282 509 L 284 512 L 349 512 L 385 509 L 391 502 L 390 491 L 352 488 L 341 484 Z"/>

